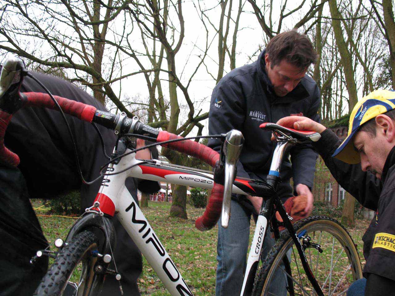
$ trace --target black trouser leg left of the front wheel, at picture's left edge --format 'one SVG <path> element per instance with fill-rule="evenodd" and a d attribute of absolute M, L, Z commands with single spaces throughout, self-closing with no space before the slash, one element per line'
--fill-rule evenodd
<path fill-rule="evenodd" d="M 0 167 L 0 295 L 32 295 L 47 272 L 48 258 L 30 264 L 48 243 L 17 168 Z"/>

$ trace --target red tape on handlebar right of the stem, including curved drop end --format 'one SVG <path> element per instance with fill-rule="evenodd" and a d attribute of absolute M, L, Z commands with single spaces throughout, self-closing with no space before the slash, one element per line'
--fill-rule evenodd
<path fill-rule="evenodd" d="M 160 131 L 156 141 L 162 142 L 173 139 L 182 139 L 182 137 L 168 133 L 167 131 Z M 167 143 L 162 146 L 177 150 L 178 152 L 186 153 L 193 157 L 197 157 L 212 167 L 215 166 L 220 158 L 218 152 L 203 144 L 191 140 Z M 195 226 L 197 229 L 200 231 L 209 230 L 217 223 L 221 215 L 223 194 L 224 186 L 214 182 L 206 210 L 201 217 L 196 219 Z"/>

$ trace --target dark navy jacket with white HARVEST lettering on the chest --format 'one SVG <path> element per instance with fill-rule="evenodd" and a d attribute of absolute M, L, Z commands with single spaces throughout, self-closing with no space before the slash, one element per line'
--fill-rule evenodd
<path fill-rule="evenodd" d="M 213 90 L 209 112 L 209 134 L 226 133 L 238 129 L 245 143 L 237 166 L 237 176 L 262 178 L 269 172 L 275 143 L 271 133 L 259 128 L 263 122 L 277 122 L 290 115 L 303 115 L 319 121 L 320 90 L 307 75 L 284 97 L 276 96 L 265 71 L 265 51 L 258 60 L 224 76 Z M 220 150 L 221 142 L 210 139 L 208 146 Z M 310 145 L 299 145 L 291 150 L 291 163 L 284 159 L 282 185 L 293 183 L 312 187 L 317 154 Z M 281 196 L 281 188 L 280 188 Z M 291 189 L 292 193 L 292 189 Z M 284 197 L 284 195 L 283 195 Z"/>

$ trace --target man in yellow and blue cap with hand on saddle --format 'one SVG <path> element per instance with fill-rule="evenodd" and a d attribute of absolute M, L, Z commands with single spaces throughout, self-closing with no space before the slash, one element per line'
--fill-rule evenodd
<path fill-rule="evenodd" d="M 277 124 L 321 134 L 313 144 L 339 184 L 376 211 L 363 240 L 365 279 L 347 295 L 395 295 L 395 92 L 376 90 L 355 105 L 347 138 L 339 139 L 310 118 L 289 116 Z M 359 185 L 355 185 L 359 184 Z"/>

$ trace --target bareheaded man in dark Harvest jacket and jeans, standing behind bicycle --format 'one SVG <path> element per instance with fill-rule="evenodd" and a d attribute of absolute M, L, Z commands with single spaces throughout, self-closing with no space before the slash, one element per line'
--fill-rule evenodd
<path fill-rule="evenodd" d="M 237 176 L 266 180 L 274 144 L 259 126 L 293 114 L 318 121 L 320 90 L 306 75 L 316 60 L 312 43 L 296 30 L 273 37 L 258 60 L 232 70 L 214 88 L 209 112 L 209 134 L 240 130 L 245 143 L 237 165 Z M 220 149 L 220 141 L 210 139 L 208 146 Z M 278 193 L 285 201 L 293 195 L 293 177 L 297 195 L 306 195 L 305 214 L 312 210 L 310 191 L 314 178 L 316 153 L 311 146 L 298 146 L 291 151 L 291 163 L 282 164 Z M 218 227 L 218 267 L 216 295 L 239 295 L 246 268 L 246 254 L 251 213 L 259 212 L 262 199 L 233 196 L 231 219 L 227 229 Z M 269 242 L 270 241 L 270 242 Z M 265 237 L 264 251 L 273 244 Z"/>

